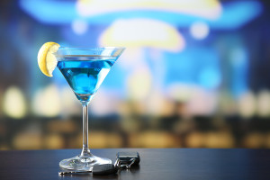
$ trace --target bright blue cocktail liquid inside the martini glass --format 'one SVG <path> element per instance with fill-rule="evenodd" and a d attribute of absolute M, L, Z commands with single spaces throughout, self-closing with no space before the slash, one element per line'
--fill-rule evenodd
<path fill-rule="evenodd" d="M 92 56 L 66 56 L 58 61 L 58 68 L 67 79 L 76 97 L 89 102 L 109 73 L 114 59 Z"/>

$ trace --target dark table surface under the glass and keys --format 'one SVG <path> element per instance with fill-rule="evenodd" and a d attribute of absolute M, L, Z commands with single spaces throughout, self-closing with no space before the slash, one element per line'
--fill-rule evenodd
<path fill-rule="evenodd" d="M 92 149 L 114 162 L 118 151 L 138 151 L 138 167 L 116 175 L 58 175 L 58 162 L 79 149 L 0 151 L 0 179 L 270 179 L 270 150 L 216 148 Z"/>

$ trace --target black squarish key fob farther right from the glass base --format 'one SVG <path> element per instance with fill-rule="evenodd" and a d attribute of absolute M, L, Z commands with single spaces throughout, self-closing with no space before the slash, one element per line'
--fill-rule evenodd
<path fill-rule="evenodd" d="M 130 162 L 134 160 L 134 163 L 132 163 L 132 166 L 138 166 L 139 165 L 139 161 L 140 161 L 140 157 L 139 157 L 139 153 L 135 152 L 135 151 L 131 151 L 131 152 L 118 152 L 116 154 L 116 158 L 118 158 L 120 160 L 120 164 L 121 165 L 129 165 Z"/>

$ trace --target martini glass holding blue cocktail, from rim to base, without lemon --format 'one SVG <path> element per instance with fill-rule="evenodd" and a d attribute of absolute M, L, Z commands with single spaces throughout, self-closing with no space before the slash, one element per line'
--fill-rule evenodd
<path fill-rule="evenodd" d="M 60 167 L 85 171 L 96 164 L 112 163 L 111 159 L 96 157 L 90 152 L 88 147 L 88 104 L 123 50 L 124 48 L 114 47 L 94 49 L 60 47 L 58 49 L 56 54 L 58 69 L 83 105 L 82 152 L 76 157 L 60 161 Z"/>

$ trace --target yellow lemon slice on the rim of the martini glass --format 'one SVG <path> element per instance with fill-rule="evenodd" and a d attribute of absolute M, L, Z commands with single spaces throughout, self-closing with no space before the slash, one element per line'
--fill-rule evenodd
<path fill-rule="evenodd" d="M 46 42 L 39 50 L 38 63 L 41 72 L 46 76 L 52 76 L 52 72 L 58 64 L 54 53 L 58 51 L 60 45 L 56 42 Z"/>

